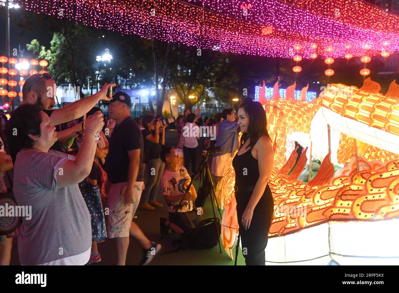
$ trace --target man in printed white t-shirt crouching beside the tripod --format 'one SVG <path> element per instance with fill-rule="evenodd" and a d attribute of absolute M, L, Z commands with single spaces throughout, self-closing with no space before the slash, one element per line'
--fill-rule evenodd
<path fill-rule="evenodd" d="M 178 234 L 195 228 L 202 219 L 202 208 L 194 208 L 197 192 L 194 186 L 188 193 L 186 188 L 190 184 L 191 177 L 186 168 L 178 166 L 178 154 L 174 147 L 165 147 L 161 151 L 161 159 L 166 164 L 166 170 L 161 178 L 162 194 L 168 204 L 170 228 Z M 183 201 L 182 201 L 183 200 Z M 182 203 L 180 204 L 180 201 Z M 177 210 L 177 214 L 175 213 Z M 167 219 L 160 218 L 160 233 L 167 234 Z"/>

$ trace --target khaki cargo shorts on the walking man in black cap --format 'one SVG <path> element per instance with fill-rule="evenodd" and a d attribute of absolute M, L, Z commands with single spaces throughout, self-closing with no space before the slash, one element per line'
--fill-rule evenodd
<path fill-rule="evenodd" d="M 124 193 L 127 182 L 111 184 L 108 191 L 109 216 L 107 225 L 108 238 L 128 237 L 130 225 L 132 224 L 134 213 L 140 203 L 141 193 L 144 189 L 144 182 L 135 182 L 134 203 L 124 204 L 122 194 Z"/>

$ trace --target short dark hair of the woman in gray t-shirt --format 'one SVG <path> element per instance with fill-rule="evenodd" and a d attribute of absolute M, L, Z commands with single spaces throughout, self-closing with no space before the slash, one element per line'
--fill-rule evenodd
<path fill-rule="evenodd" d="M 7 127 L 7 139 L 10 149 L 18 153 L 22 148 L 31 148 L 34 140 L 30 135 L 40 136 L 41 109 L 38 105 L 23 104 L 11 112 Z"/>

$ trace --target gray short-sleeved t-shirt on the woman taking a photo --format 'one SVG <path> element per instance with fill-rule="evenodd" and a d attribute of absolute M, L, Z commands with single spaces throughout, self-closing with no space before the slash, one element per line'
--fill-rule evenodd
<path fill-rule="evenodd" d="M 90 213 L 79 186 L 57 188 L 57 173 L 68 159 L 74 156 L 56 150 L 17 154 L 14 196 L 18 205 L 32 206 L 32 219 L 22 218 L 18 235 L 21 264 L 44 264 L 91 247 Z"/>

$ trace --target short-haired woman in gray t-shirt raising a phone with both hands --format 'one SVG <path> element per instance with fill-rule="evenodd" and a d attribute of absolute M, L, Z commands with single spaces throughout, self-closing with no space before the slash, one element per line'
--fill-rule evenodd
<path fill-rule="evenodd" d="M 37 105 L 21 105 L 10 119 L 10 147 L 18 152 L 14 164 L 14 196 L 24 206 L 18 235 L 23 265 L 86 264 L 91 250 L 91 221 L 78 183 L 91 170 L 96 137 L 103 115 L 86 120 L 76 157 L 49 148 L 57 132 Z M 16 135 L 13 135 L 16 133 Z"/>

